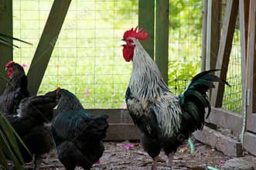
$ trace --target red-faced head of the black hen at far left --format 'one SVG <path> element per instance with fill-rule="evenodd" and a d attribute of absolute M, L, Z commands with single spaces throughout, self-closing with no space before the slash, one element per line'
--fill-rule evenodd
<path fill-rule="evenodd" d="M 21 77 L 25 74 L 23 67 L 13 61 L 5 64 L 5 70 L 7 71 L 9 79 L 12 79 L 12 77 Z"/>

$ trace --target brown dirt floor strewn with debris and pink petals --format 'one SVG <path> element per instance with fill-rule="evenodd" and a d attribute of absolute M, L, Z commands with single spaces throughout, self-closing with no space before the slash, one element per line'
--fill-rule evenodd
<path fill-rule="evenodd" d="M 193 154 L 190 154 L 188 145 L 182 145 L 176 155 L 174 155 L 172 169 L 207 169 L 207 166 L 213 168 L 220 168 L 224 165 L 228 159 L 227 156 L 223 155 L 220 151 L 215 151 L 207 145 L 195 141 L 196 150 Z M 100 168 L 92 169 L 107 169 L 107 170 L 119 170 L 119 169 L 150 169 L 152 165 L 152 159 L 142 150 L 139 143 L 124 142 L 105 142 L 104 155 L 101 158 Z M 168 169 L 166 165 L 166 155 L 161 153 L 159 160 L 158 169 Z M 32 165 L 27 165 L 27 168 Z M 63 170 L 63 165 L 59 162 L 56 157 L 56 151 L 53 150 L 46 158 L 43 159 L 43 163 L 40 169 L 56 169 Z M 82 169 L 82 168 L 76 168 Z"/>

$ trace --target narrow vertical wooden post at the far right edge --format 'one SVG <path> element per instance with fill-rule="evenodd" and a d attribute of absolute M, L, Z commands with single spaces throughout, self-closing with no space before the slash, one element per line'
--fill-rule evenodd
<path fill-rule="evenodd" d="M 252 114 L 256 112 L 256 97 L 255 97 L 255 90 L 256 90 L 256 78 L 255 78 L 255 10 L 256 10 L 256 1 L 250 1 L 250 9 L 249 9 L 249 25 L 248 25 L 248 38 L 247 38 L 247 73 L 246 73 L 246 80 L 247 80 L 247 90 L 250 90 L 249 100 L 250 103 L 247 107 L 247 114 Z M 248 120 L 248 119 L 247 119 Z M 255 131 L 255 129 L 254 129 Z"/>

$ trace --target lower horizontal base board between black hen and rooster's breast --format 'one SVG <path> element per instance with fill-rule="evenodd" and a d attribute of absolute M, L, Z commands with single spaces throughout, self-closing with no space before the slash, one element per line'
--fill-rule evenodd
<path fill-rule="evenodd" d="M 134 124 L 109 124 L 104 141 L 138 141 L 141 136 L 141 131 Z"/>

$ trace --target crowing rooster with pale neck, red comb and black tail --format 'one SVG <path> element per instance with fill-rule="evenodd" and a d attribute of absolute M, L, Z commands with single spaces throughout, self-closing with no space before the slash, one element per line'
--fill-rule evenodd
<path fill-rule="evenodd" d="M 226 83 L 204 71 L 193 77 L 186 90 L 176 97 L 167 87 L 159 68 L 138 40 L 145 40 L 148 33 L 143 29 L 129 29 L 123 39 L 123 56 L 132 61 L 131 79 L 125 101 L 134 123 L 142 131 L 142 146 L 152 157 L 152 169 L 160 151 L 165 151 L 171 167 L 172 158 L 179 145 L 196 130 L 202 130 L 205 108 L 210 114 L 207 91 L 213 82 Z M 207 115 L 207 116 L 208 116 Z"/>

